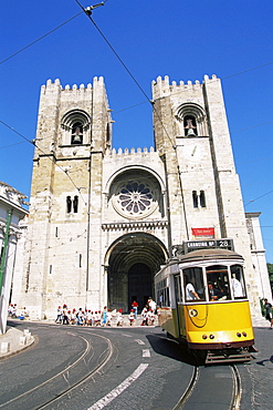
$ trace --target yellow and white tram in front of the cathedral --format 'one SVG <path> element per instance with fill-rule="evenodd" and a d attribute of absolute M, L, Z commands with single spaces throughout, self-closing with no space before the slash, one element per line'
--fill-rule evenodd
<path fill-rule="evenodd" d="M 158 321 L 207 362 L 245 361 L 255 351 L 243 257 L 223 248 L 178 255 L 155 276 Z"/>

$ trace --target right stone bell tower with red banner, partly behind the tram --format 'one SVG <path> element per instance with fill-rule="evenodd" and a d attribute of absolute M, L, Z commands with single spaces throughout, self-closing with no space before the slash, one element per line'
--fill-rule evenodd
<path fill-rule="evenodd" d="M 171 246 L 232 238 L 245 259 L 253 296 L 250 239 L 220 80 L 204 75 L 202 83 L 178 84 L 159 76 L 153 82 L 153 101 L 155 145 L 168 185 Z"/>

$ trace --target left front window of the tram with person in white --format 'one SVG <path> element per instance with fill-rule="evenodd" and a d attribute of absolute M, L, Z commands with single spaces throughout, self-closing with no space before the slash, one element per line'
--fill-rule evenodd
<path fill-rule="evenodd" d="M 191 267 L 182 271 L 186 301 L 204 300 L 202 268 Z"/>

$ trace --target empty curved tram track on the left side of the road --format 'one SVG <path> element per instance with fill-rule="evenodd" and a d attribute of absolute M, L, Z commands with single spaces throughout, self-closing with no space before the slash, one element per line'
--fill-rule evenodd
<path fill-rule="evenodd" d="M 106 341 L 106 346 L 107 347 L 106 347 L 105 350 L 103 350 L 101 352 L 101 355 L 99 355 L 99 362 L 97 362 L 97 365 L 91 371 L 87 370 L 87 373 L 85 376 L 82 376 L 77 381 L 75 381 L 72 385 L 70 385 L 70 381 L 67 379 L 67 375 L 70 375 L 70 371 L 72 369 L 75 369 L 76 366 L 78 366 L 80 363 L 84 363 L 84 366 L 87 369 L 86 363 L 90 361 L 88 355 L 91 352 L 92 344 L 91 344 L 91 340 L 88 340 L 87 338 L 85 338 L 82 335 L 78 335 L 78 334 L 75 335 L 73 332 L 69 332 L 69 334 L 72 335 L 72 336 L 75 336 L 75 337 L 80 337 L 80 338 L 82 338 L 82 340 L 85 341 L 85 349 L 84 349 L 83 353 L 74 362 L 72 362 L 71 365 L 69 365 L 67 367 L 65 367 L 62 371 L 59 371 L 56 375 L 54 375 L 51 378 L 44 380 L 39 386 L 35 386 L 32 389 L 29 389 L 28 391 L 24 391 L 23 393 L 14 397 L 13 399 L 11 399 L 11 400 L 9 400 L 9 401 L 0 404 L 0 408 L 9 409 L 10 406 L 14 406 L 14 404 L 17 406 L 17 408 L 19 408 L 20 400 L 21 401 L 22 400 L 25 400 L 25 399 L 28 400 L 28 397 L 30 394 L 33 394 L 33 392 L 38 391 L 41 388 L 45 388 L 46 389 L 46 386 L 53 383 L 57 378 L 63 378 L 64 380 L 66 380 L 67 388 L 63 389 L 63 391 L 61 391 L 60 393 L 54 394 L 54 397 L 50 398 L 48 401 L 45 401 L 45 402 L 43 402 L 41 404 L 36 404 L 36 406 L 33 407 L 33 409 L 35 409 L 35 410 L 46 409 L 48 406 L 51 406 L 52 403 L 56 402 L 62 397 L 71 393 L 74 389 L 78 388 L 81 385 L 83 385 L 87 380 L 94 378 L 94 376 L 96 376 L 96 375 L 98 375 L 98 373 L 102 372 L 103 368 L 109 362 L 109 360 L 113 357 L 114 347 L 113 347 L 112 341 L 108 338 L 106 338 L 106 337 L 104 337 L 102 335 L 93 334 L 92 336 L 95 336 L 95 337 L 98 337 L 101 339 L 104 339 L 104 341 Z M 87 361 L 86 361 L 86 359 L 87 359 Z M 14 407 L 12 407 L 12 408 L 14 408 Z"/>

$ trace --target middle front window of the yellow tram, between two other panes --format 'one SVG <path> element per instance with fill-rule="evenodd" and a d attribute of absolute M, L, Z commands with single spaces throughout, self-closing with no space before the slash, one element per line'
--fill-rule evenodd
<path fill-rule="evenodd" d="M 206 268 L 210 301 L 230 299 L 228 266 L 213 265 Z"/>

